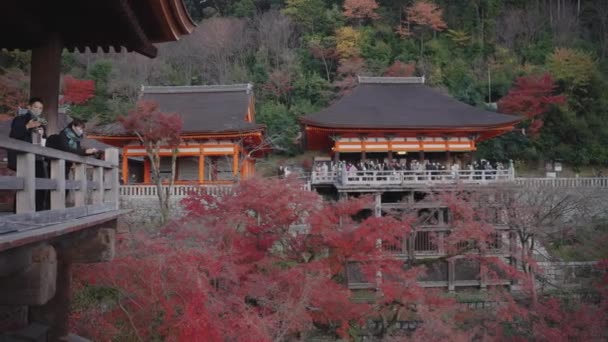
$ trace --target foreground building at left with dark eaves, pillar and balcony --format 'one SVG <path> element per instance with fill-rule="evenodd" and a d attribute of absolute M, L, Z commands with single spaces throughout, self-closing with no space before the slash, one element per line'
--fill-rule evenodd
<path fill-rule="evenodd" d="M 29 96 L 43 99 L 50 134 L 62 128 L 57 113 L 65 49 L 155 57 L 154 44 L 179 40 L 194 27 L 183 0 L 0 1 L 0 49 L 31 51 Z M 7 136 L 0 137 L 0 148 L 17 152 L 15 174 L 0 176 L 0 191 L 16 192 L 16 213 L 0 215 L 0 340 L 82 340 L 69 334 L 72 268 L 114 256 L 124 213 L 118 151 L 107 149 L 105 160 L 97 160 Z M 35 174 L 41 159 L 49 161 L 49 178 Z M 65 179 L 66 164 L 74 166 L 75 179 Z M 36 211 L 40 190 L 50 193 L 48 210 Z M 73 203 L 66 190 L 74 193 Z"/>

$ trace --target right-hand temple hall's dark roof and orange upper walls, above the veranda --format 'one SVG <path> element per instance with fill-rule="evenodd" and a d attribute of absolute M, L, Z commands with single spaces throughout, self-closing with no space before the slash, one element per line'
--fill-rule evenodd
<path fill-rule="evenodd" d="M 393 158 L 414 154 L 471 159 L 480 141 L 509 132 L 517 116 L 459 102 L 424 84 L 424 77 L 359 77 L 358 85 L 329 107 L 300 119 L 303 144 L 334 159 Z M 360 156 L 360 157 L 359 157 Z"/>

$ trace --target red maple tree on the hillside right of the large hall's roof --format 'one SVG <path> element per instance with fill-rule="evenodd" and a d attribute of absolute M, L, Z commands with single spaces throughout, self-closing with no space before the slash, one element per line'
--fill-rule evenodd
<path fill-rule="evenodd" d="M 552 105 L 566 103 L 564 95 L 555 95 L 556 88 L 549 74 L 519 77 L 509 93 L 498 101 L 498 109 L 530 119 L 530 133 L 536 135 L 543 126 L 542 115 Z"/>

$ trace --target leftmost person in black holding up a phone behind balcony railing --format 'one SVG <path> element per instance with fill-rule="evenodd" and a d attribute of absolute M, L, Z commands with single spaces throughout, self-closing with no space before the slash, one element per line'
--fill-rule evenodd
<path fill-rule="evenodd" d="M 11 123 L 11 132 L 9 137 L 18 139 L 21 141 L 29 142 L 30 144 L 36 140 L 42 140 L 44 138 L 44 120 L 40 117 L 44 104 L 42 99 L 38 97 L 32 97 L 28 102 L 27 113 L 18 115 L 13 119 Z M 8 150 L 8 168 L 15 171 L 17 170 L 17 152 Z M 48 178 L 48 172 L 45 165 L 44 158 L 36 156 L 36 178 Z M 36 210 L 48 209 L 48 191 L 36 190 Z"/>

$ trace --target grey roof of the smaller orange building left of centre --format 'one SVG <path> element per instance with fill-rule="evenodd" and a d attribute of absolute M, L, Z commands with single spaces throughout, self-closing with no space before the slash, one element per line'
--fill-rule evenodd
<path fill-rule="evenodd" d="M 250 84 L 219 86 L 144 87 L 144 100 L 152 100 L 164 112 L 175 112 L 184 121 L 183 133 L 249 132 L 264 125 L 245 121 L 253 96 Z M 129 135 L 120 123 L 95 127 L 91 134 Z"/>

